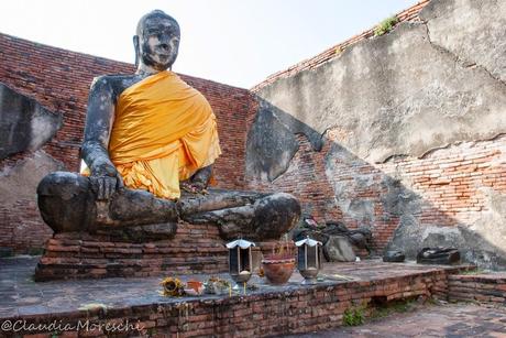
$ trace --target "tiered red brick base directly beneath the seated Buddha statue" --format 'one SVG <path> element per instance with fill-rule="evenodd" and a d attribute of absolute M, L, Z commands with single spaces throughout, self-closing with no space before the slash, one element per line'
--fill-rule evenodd
<path fill-rule="evenodd" d="M 35 281 L 222 273 L 228 251 L 212 225 L 179 223 L 173 239 L 145 243 L 117 235 L 57 233 L 45 246 Z"/>

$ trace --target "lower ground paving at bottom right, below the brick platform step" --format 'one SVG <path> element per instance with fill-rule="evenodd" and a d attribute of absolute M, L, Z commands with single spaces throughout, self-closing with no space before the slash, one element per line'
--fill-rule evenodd
<path fill-rule="evenodd" d="M 356 327 L 285 337 L 506 337 L 506 307 L 470 303 L 426 305 L 418 306 L 409 313 L 397 313 Z"/>

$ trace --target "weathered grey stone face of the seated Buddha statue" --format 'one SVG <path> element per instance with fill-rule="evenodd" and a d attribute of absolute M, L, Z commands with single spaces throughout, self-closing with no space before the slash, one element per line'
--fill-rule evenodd
<path fill-rule="evenodd" d="M 174 20 L 160 15 L 146 18 L 139 36 L 142 63 L 156 70 L 170 67 L 177 57 L 179 36 Z"/>

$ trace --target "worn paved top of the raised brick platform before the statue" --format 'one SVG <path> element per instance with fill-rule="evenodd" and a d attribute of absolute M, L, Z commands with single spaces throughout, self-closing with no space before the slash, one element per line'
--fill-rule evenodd
<path fill-rule="evenodd" d="M 86 304 L 106 304 L 108 307 L 134 306 L 153 303 L 169 303 L 180 299 L 162 297 L 158 294 L 161 277 L 103 279 L 52 281 L 35 283 L 33 272 L 38 258 L 0 259 L 0 318 L 64 313 L 76 310 Z M 359 263 L 327 263 L 320 275 L 327 276 L 322 284 L 346 283 L 348 281 L 372 281 L 394 276 L 409 276 L 414 273 L 452 269 L 411 263 L 383 263 L 367 260 Z M 228 277 L 228 275 L 223 275 Z M 183 276 L 183 280 L 188 276 Z M 206 280 L 205 275 L 191 279 Z M 260 286 L 254 293 L 284 291 L 304 287 L 301 276 L 295 272 L 288 284 L 271 286 L 255 276 L 252 282 Z M 251 292 L 249 292 L 250 294 Z M 201 298 L 212 297 L 202 296 Z M 215 296 L 216 297 L 216 296 Z"/>

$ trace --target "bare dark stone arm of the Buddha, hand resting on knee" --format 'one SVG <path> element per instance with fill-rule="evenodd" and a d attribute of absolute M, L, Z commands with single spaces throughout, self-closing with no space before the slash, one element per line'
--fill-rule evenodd
<path fill-rule="evenodd" d="M 108 199 L 122 185 L 121 177 L 109 157 L 108 146 L 114 121 L 114 92 L 107 77 L 94 80 L 88 97 L 82 160 L 91 172 L 98 199 Z"/>

